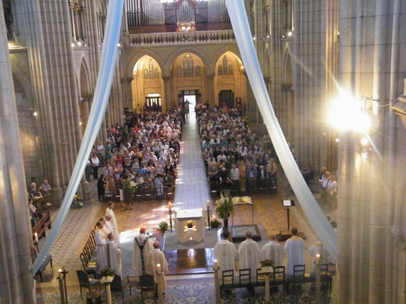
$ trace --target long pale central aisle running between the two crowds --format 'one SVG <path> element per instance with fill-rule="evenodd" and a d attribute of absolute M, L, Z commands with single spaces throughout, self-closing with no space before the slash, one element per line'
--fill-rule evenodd
<path fill-rule="evenodd" d="M 190 113 L 182 129 L 178 178 L 175 186 L 175 208 L 193 209 L 206 207 L 209 188 L 206 167 L 201 156 L 197 120 Z"/>

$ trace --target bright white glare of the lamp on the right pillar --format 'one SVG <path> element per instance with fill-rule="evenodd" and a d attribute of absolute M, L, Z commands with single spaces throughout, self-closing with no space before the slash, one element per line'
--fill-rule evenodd
<path fill-rule="evenodd" d="M 341 131 L 366 133 L 371 126 L 371 119 L 361 110 L 360 101 L 349 95 L 332 101 L 328 117 L 331 125 Z"/>

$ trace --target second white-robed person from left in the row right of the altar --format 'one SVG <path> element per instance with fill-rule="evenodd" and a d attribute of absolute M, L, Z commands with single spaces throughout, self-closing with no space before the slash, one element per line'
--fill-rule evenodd
<path fill-rule="evenodd" d="M 251 269 L 251 278 L 256 278 L 257 269 L 260 268 L 259 245 L 253 241 L 251 231 L 245 233 L 246 240 L 240 244 L 238 255 L 241 269 Z"/>

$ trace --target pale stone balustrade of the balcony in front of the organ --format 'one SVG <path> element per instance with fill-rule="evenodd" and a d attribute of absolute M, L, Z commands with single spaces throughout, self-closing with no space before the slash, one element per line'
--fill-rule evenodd
<path fill-rule="evenodd" d="M 235 42 L 232 30 L 130 34 L 128 46 Z"/>

